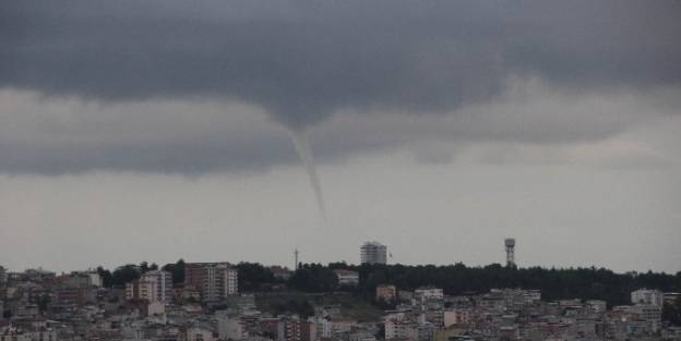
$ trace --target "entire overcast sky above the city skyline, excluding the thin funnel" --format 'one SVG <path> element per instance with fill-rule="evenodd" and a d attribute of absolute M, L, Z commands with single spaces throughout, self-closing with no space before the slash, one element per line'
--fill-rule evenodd
<path fill-rule="evenodd" d="M 519 266 L 679 271 L 680 32 L 679 1 L 3 1 L 0 265 L 513 236 Z"/>

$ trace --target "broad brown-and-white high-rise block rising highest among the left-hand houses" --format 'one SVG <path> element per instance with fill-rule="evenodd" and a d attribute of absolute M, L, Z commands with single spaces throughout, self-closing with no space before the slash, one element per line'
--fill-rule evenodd
<path fill-rule="evenodd" d="M 198 290 L 203 301 L 217 301 L 239 293 L 239 277 L 229 263 L 187 263 L 184 288 Z"/>

